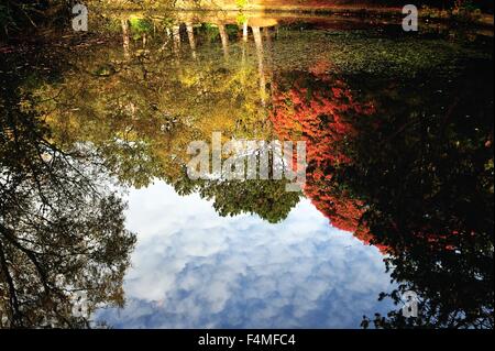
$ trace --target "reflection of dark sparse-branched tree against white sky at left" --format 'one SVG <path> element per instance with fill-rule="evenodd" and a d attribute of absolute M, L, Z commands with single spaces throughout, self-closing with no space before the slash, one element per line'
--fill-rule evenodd
<path fill-rule="evenodd" d="M 89 327 L 98 306 L 123 305 L 135 237 L 91 151 L 55 146 L 11 88 L 0 100 L 0 326 Z"/>

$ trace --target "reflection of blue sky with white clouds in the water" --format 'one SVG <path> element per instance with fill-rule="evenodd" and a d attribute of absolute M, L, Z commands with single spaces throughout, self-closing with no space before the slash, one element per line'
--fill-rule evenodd
<path fill-rule="evenodd" d="M 386 312 L 377 249 L 332 228 L 308 200 L 279 224 L 219 217 L 197 195 L 157 183 L 132 190 L 128 228 L 139 233 L 116 328 L 359 328 Z"/>

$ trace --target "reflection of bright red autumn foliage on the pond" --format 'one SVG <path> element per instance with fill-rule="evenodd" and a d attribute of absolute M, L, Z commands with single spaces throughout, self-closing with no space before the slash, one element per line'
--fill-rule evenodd
<path fill-rule="evenodd" d="M 344 187 L 336 187 L 332 175 L 352 162 L 348 149 L 356 134 L 353 122 L 367 118 L 373 106 L 355 101 L 342 80 L 326 74 L 329 67 L 322 61 L 310 73 L 280 79 L 271 120 L 280 139 L 307 142 L 306 196 L 332 226 L 369 242 L 369 230 L 360 223 L 363 202 Z"/>

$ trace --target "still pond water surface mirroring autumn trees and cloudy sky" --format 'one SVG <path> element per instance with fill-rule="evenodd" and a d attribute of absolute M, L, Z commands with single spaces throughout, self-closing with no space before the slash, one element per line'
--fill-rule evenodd
<path fill-rule="evenodd" d="M 3 327 L 493 328 L 493 34 L 121 12 L 0 57 Z M 305 141 L 301 191 L 190 179 L 215 132 Z"/>

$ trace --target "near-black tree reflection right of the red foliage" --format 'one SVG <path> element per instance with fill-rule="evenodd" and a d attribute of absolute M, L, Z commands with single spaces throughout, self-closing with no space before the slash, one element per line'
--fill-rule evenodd
<path fill-rule="evenodd" d="M 394 311 L 378 327 L 493 328 L 493 68 L 475 65 L 450 86 L 432 77 L 421 87 L 439 91 L 438 79 L 444 95 L 407 86 L 400 94 L 421 105 L 363 127 L 360 157 L 339 176 L 371 205 L 374 240 L 394 249 L 392 298 L 421 299 L 418 319 Z"/>

